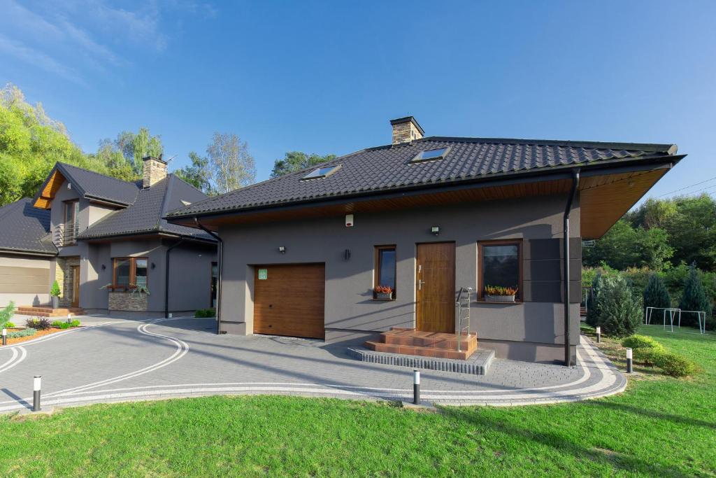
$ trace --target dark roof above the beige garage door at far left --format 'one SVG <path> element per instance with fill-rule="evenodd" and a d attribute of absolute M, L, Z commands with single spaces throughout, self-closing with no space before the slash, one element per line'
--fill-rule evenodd
<path fill-rule="evenodd" d="M 0 250 L 57 254 L 49 235 L 50 211 L 32 203 L 24 198 L 0 208 Z"/>

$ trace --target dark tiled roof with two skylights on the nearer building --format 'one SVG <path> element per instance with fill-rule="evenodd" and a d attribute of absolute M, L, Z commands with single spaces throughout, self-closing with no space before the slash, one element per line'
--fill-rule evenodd
<path fill-rule="evenodd" d="M 411 163 L 417 153 L 449 147 L 445 158 Z M 595 143 L 556 140 L 429 137 L 369 148 L 327 161 L 341 165 L 326 178 L 301 181 L 309 169 L 269 179 L 215 196 L 178 211 L 170 218 L 241 211 L 302 201 L 364 196 L 421 186 L 448 186 L 528 171 L 586 164 L 662 158 L 676 153 L 676 145 Z"/>

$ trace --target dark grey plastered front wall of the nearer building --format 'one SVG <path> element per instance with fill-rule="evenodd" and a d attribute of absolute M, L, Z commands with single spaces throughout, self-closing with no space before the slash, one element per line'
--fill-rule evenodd
<path fill-rule="evenodd" d="M 472 328 L 498 356 L 563 360 L 561 236 L 566 195 L 483 201 L 427 209 L 223 226 L 222 329 L 253 333 L 253 265 L 324 263 L 326 340 L 415 327 L 416 244 L 455 243 L 455 290 L 477 288 L 478 242 L 523 241 L 523 302 L 474 301 Z M 430 233 L 440 226 L 440 234 Z M 579 201 L 571 214 L 571 343 L 579 340 L 581 247 Z M 373 300 L 374 246 L 395 244 L 396 300 Z M 279 253 L 279 247 L 286 253 Z M 350 258 L 345 258 L 349 249 Z M 574 350 L 574 347 L 573 347 Z M 573 351 L 574 353 L 574 351 Z"/>

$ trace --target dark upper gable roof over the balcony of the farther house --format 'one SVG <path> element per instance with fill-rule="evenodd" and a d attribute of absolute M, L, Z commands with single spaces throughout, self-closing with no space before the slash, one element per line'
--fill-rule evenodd
<path fill-rule="evenodd" d="M 120 179 L 110 178 L 110 176 L 65 163 L 57 163 L 55 168 L 62 173 L 65 180 L 72 183 L 73 188 L 77 188 L 80 196 L 84 196 L 87 199 L 99 199 L 128 206 L 134 202 L 137 193 L 142 188 L 141 180 L 134 182 L 121 181 Z M 52 172 L 49 174 L 48 179 L 50 177 L 52 177 Z M 42 191 L 42 188 L 40 188 L 40 191 Z"/>

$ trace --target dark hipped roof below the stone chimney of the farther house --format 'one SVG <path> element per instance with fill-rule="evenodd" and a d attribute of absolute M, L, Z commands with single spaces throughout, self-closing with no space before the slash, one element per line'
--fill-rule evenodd
<path fill-rule="evenodd" d="M 194 203 L 203 199 L 204 193 L 169 174 L 152 187 L 140 189 L 131 206 L 107 214 L 78 234 L 77 239 L 164 232 L 213 242 L 215 239 L 204 231 L 169 224 L 163 219 L 167 211 L 185 206 L 182 201 Z"/>

